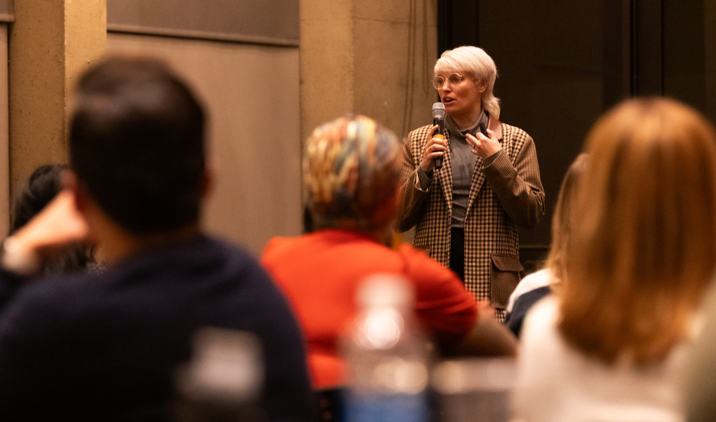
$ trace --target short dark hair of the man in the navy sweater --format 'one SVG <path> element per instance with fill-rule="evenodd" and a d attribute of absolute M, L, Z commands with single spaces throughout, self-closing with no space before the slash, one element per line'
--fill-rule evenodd
<path fill-rule="evenodd" d="M 125 230 L 163 232 L 197 222 L 204 119 L 195 95 L 163 62 L 110 57 L 77 84 L 72 170 Z"/>

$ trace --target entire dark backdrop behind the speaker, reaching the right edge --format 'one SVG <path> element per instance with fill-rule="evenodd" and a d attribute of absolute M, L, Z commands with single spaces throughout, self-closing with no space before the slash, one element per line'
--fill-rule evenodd
<path fill-rule="evenodd" d="M 546 215 L 520 230 L 527 269 L 546 255 L 561 179 L 600 114 L 637 95 L 667 95 L 707 116 L 716 112 L 716 77 L 707 74 L 716 57 L 706 48 L 716 45 L 707 39 L 716 31 L 706 26 L 716 16 L 705 6 L 709 11 L 704 0 L 438 0 L 438 53 L 485 49 L 498 67 L 500 120 L 535 140 Z"/>

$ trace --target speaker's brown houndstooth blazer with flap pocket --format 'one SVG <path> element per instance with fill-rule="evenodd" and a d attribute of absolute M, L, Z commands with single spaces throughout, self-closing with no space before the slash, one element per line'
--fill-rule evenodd
<path fill-rule="evenodd" d="M 413 246 L 450 265 L 450 222 L 453 208 L 453 171 L 450 148 L 442 168 L 435 170 L 426 190 L 416 187 L 422 149 L 430 140 L 432 125 L 408 134 L 403 148 L 401 231 L 415 226 Z M 483 168 L 477 158 L 465 215 L 465 287 L 478 300 L 490 299 L 504 309 L 519 282 L 517 226 L 531 228 L 544 215 L 544 190 L 532 138 L 518 127 L 490 121 L 503 153 Z M 450 143 L 450 134 L 445 133 Z"/>

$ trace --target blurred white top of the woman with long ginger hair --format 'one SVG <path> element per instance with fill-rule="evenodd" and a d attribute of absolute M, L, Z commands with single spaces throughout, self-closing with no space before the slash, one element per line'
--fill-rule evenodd
<path fill-rule="evenodd" d="M 558 301 L 544 298 L 529 311 L 514 396 L 523 421 L 683 422 L 682 374 L 687 348 L 646 368 L 607 365 L 566 344 L 556 327 Z"/>

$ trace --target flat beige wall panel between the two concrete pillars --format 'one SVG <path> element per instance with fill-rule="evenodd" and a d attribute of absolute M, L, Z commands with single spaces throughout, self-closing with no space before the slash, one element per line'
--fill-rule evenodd
<path fill-rule="evenodd" d="M 107 51 L 163 57 L 205 102 L 216 175 L 209 232 L 254 255 L 271 237 L 301 233 L 297 48 L 108 34 Z"/>

